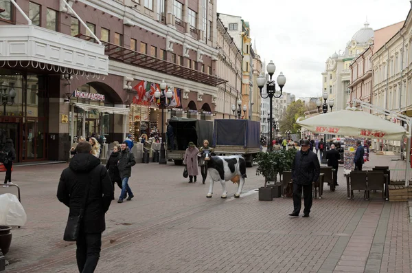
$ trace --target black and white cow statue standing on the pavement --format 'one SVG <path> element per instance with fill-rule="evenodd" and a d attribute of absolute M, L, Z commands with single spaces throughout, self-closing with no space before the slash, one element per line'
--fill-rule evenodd
<path fill-rule="evenodd" d="M 231 180 L 233 183 L 238 183 L 238 190 L 235 193 L 235 198 L 240 197 L 244 185 L 246 175 L 246 161 L 242 155 L 231 156 L 216 156 L 211 155 L 209 150 L 204 150 L 198 154 L 207 162 L 207 173 L 210 177 L 209 193 L 206 197 L 211 198 L 213 194 L 214 182 L 220 181 L 222 184 L 222 198 L 227 197 L 226 182 Z"/>

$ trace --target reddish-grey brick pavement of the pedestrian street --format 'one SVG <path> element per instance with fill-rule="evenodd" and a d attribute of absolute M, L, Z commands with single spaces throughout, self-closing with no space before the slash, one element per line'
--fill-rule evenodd
<path fill-rule="evenodd" d="M 372 154 L 365 168 L 392 158 Z M 28 221 L 13 230 L 6 272 L 78 272 L 76 245 L 62 241 L 67 208 L 56 199 L 65 166 L 15 168 Z M 407 202 L 380 193 L 364 201 L 357 192 L 347 200 L 343 169 L 340 186 L 332 193 L 325 184 L 309 218 L 288 217 L 292 199 L 258 201 L 264 178 L 255 168 L 240 199 L 220 199 L 220 184 L 207 199 L 209 185 L 188 184 L 182 172 L 170 163 L 133 168 L 135 198 L 109 209 L 96 272 L 412 272 Z M 236 185 L 227 184 L 233 196 Z"/>

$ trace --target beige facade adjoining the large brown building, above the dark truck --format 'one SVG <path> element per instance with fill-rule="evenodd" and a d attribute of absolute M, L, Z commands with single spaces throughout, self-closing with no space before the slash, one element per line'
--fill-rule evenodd
<path fill-rule="evenodd" d="M 231 28 L 234 28 L 233 25 L 231 25 Z M 235 118 L 231 106 L 236 105 L 236 98 L 241 96 L 242 52 L 240 52 L 234 39 L 220 20 L 219 14 L 217 35 L 218 63 L 216 65 L 216 75 L 219 78 L 227 79 L 227 83 L 218 86 L 216 118 Z"/>

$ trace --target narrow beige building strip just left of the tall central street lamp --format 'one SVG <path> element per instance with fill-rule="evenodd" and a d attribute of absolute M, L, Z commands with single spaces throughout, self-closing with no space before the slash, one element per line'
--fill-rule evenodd
<path fill-rule="evenodd" d="M 253 56 L 253 85 L 252 85 L 252 97 L 251 97 L 251 120 L 260 121 L 260 111 L 261 111 L 261 97 L 258 84 L 256 83 L 256 79 L 262 73 L 262 61 L 260 60 L 260 56 L 258 51 L 256 50 L 256 43 L 253 43 L 253 47 L 251 50 Z"/>

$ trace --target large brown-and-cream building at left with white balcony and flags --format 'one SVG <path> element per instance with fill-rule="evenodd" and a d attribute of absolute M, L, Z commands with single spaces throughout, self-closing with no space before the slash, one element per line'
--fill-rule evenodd
<path fill-rule="evenodd" d="M 0 2 L 0 141 L 18 162 L 67 160 L 76 136 L 107 142 L 161 129 L 153 94 L 165 80 L 169 116 L 211 119 L 216 1 Z M 84 23 L 83 23 L 84 22 Z"/>

